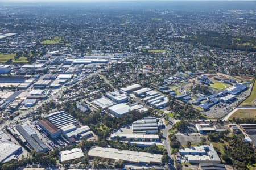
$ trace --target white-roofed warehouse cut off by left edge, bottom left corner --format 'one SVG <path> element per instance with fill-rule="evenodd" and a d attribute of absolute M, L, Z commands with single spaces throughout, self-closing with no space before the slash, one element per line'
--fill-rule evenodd
<path fill-rule="evenodd" d="M 10 141 L 0 141 L 0 163 L 13 159 L 22 152 L 22 147 Z"/>

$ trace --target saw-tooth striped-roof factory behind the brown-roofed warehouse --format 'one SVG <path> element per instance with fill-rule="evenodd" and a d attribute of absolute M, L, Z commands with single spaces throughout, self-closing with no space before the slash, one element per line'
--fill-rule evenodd
<path fill-rule="evenodd" d="M 51 114 L 48 114 L 46 118 L 57 128 L 61 128 L 62 126 L 66 126 L 69 124 L 74 124 L 76 126 L 79 125 L 79 121 L 77 121 L 66 111 L 53 112 Z"/>

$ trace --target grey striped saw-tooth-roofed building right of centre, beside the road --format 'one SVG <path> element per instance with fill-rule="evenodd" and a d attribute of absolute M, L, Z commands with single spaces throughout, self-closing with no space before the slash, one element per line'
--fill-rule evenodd
<path fill-rule="evenodd" d="M 155 117 L 144 117 L 132 124 L 133 134 L 156 134 L 158 133 L 158 122 Z"/>

